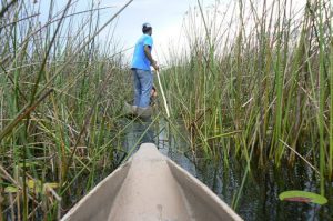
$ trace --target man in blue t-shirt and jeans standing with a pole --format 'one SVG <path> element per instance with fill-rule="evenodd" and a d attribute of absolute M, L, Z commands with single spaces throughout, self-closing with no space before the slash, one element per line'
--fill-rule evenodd
<path fill-rule="evenodd" d="M 134 78 L 134 107 L 148 109 L 153 86 L 150 67 L 152 66 L 157 71 L 159 67 L 151 56 L 153 39 L 150 23 L 142 24 L 142 37 L 135 44 L 131 69 Z"/>

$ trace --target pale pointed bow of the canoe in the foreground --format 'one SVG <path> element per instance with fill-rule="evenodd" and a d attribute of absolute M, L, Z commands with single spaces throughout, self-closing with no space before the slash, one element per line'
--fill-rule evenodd
<path fill-rule="evenodd" d="M 242 220 L 208 187 L 143 143 L 63 218 L 68 221 Z"/>

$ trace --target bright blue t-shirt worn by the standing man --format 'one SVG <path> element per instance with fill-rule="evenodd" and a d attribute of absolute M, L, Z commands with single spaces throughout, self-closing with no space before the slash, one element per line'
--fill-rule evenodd
<path fill-rule="evenodd" d="M 149 46 L 151 51 L 152 44 L 153 40 L 149 34 L 143 34 L 138 40 L 133 53 L 132 68 L 150 71 L 151 63 L 144 53 L 144 46 Z"/>

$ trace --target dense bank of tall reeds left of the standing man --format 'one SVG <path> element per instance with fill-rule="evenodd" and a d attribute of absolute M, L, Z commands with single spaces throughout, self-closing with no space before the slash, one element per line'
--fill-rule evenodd
<path fill-rule="evenodd" d="M 69 0 L 56 11 L 50 1 L 41 24 L 39 2 L 1 1 L 0 198 L 10 190 L 6 188 L 17 188 L 10 193 L 12 204 L 2 202 L 1 214 L 8 210 L 22 220 L 37 214 L 53 220 L 60 211 L 57 194 L 65 201 L 83 174 L 89 190 L 99 164 L 112 164 L 118 147 L 107 131 L 129 96 L 124 84 L 130 74 L 122 71 L 120 49 L 110 51 L 112 37 L 104 41 L 108 47 L 97 37 L 131 2 L 102 23 L 99 11 L 107 8 L 99 4 L 77 12 Z M 28 180 L 57 182 L 58 193 L 34 193 Z"/>

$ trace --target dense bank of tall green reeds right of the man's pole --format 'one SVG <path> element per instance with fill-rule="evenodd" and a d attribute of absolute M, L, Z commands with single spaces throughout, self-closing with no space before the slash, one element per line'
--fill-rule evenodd
<path fill-rule="evenodd" d="M 189 49 L 163 74 L 168 100 L 205 157 L 235 151 L 249 163 L 253 151 L 261 165 L 279 165 L 296 152 L 320 168 L 323 194 L 333 174 L 332 2 L 297 11 L 291 0 L 268 2 L 221 13 L 198 1 L 184 22 Z"/>

